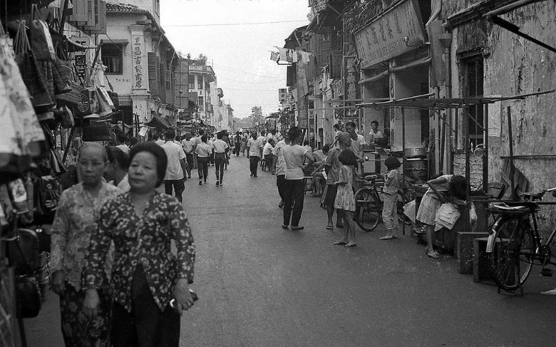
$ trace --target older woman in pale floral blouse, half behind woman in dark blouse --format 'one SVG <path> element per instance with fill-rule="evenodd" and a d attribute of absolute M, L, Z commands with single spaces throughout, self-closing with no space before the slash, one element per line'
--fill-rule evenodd
<path fill-rule="evenodd" d="M 88 319 L 83 310 L 85 288 L 82 280 L 89 241 L 97 230 L 99 211 L 106 201 L 120 194 L 120 189 L 101 180 L 108 169 L 108 155 L 99 144 L 84 144 L 81 147 L 77 169 L 83 181 L 62 193 L 52 226 L 51 287 L 60 296 L 65 346 L 110 346 L 109 264 L 99 264 L 99 308 L 94 319 Z"/>

